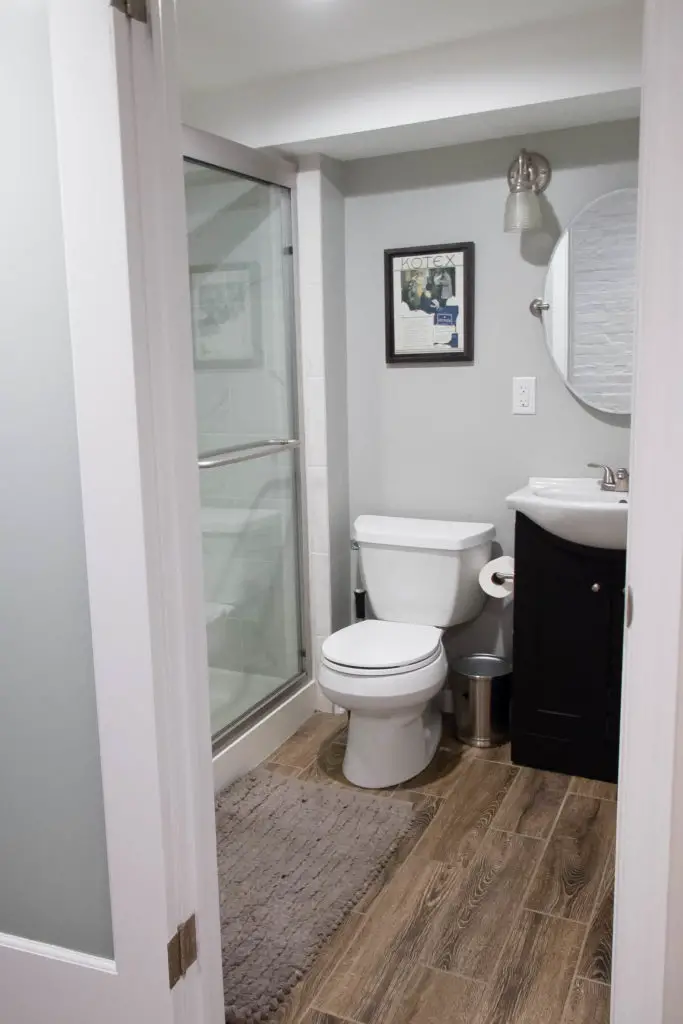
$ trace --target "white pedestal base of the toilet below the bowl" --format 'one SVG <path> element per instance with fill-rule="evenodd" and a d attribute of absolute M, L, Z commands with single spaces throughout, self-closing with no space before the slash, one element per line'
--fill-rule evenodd
<path fill-rule="evenodd" d="M 342 771 L 365 790 L 398 785 L 424 771 L 440 738 L 441 712 L 435 700 L 391 715 L 351 711 Z"/>

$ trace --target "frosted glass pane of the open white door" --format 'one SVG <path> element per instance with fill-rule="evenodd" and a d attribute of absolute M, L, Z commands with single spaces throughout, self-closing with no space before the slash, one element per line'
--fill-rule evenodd
<path fill-rule="evenodd" d="M 0 932 L 112 956 L 48 6 L 18 6 L 0 14 Z"/>

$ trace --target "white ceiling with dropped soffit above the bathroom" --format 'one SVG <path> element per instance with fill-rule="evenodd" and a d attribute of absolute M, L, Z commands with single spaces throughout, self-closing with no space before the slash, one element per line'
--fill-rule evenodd
<path fill-rule="evenodd" d="M 635 117 L 643 0 L 176 0 L 186 124 L 338 160 Z"/>

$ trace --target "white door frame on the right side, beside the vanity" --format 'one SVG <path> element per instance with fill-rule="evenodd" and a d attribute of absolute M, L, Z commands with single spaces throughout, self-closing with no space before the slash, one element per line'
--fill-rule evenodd
<path fill-rule="evenodd" d="M 683 5 L 647 0 L 612 1024 L 683 1006 Z"/>

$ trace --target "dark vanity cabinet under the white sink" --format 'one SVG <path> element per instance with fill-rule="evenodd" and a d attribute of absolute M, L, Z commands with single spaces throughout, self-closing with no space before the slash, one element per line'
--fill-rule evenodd
<path fill-rule="evenodd" d="M 616 781 L 626 553 L 517 513 L 512 760 Z"/>

